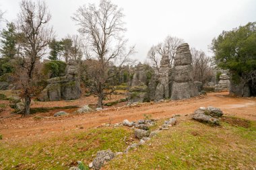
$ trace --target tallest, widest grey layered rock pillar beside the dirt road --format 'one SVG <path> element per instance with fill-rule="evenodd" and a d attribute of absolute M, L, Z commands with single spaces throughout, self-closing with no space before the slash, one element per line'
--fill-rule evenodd
<path fill-rule="evenodd" d="M 171 99 L 187 99 L 199 95 L 192 76 L 192 56 L 189 44 L 183 43 L 177 48 L 174 57 L 174 80 L 172 83 Z"/>

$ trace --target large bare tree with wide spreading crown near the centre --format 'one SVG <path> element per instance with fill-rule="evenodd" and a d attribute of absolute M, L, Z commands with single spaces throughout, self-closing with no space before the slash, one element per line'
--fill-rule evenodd
<path fill-rule="evenodd" d="M 126 31 L 123 22 L 123 9 L 119 9 L 108 0 L 100 1 L 98 7 L 89 4 L 79 7 L 72 17 L 79 26 L 79 32 L 88 42 L 90 56 L 95 56 L 96 64 L 93 68 L 92 89 L 98 96 L 98 107 L 102 108 L 102 100 L 109 93 L 108 81 L 117 76 L 117 72 L 110 71 L 110 64 L 121 66 L 129 60 L 134 52 L 134 46 L 127 50 Z"/>

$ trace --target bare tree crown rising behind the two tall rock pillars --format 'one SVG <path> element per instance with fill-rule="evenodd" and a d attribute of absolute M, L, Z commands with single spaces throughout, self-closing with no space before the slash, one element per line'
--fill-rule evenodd
<path fill-rule="evenodd" d="M 184 40 L 181 38 L 167 36 L 164 42 L 160 42 L 156 46 L 152 46 L 150 48 L 150 50 L 148 51 L 148 58 L 152 60 L 153 65 L 155 65 L 159 71 L 160 60 L 163 54 L 167 53 L 170 60 L 170 67 L 171 67 L 174 56 L 176 54 L 177 47 L 183 42 Z"/>

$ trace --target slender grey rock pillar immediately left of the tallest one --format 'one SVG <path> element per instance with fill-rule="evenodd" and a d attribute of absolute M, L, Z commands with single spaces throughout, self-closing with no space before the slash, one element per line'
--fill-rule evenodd
<path fill-rule="evenodd" d="M 158 81 L 155 95 L 156 101 L 170 98 L 170 60 L 167 54 L 164 54 L 160 61 Z"/>

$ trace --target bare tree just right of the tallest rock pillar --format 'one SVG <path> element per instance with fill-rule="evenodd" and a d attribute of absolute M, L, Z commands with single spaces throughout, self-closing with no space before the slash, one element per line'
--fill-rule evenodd
<path fill-rule="evenodd" d="M 203 84 L 212 78 L 212 58 L 205 55 L 201 50 L 191 48 L 193 78 L 194 81 L 201 81 Z"/>

